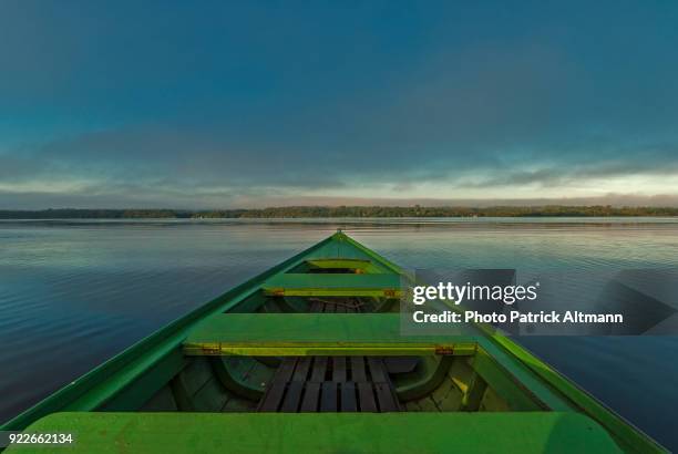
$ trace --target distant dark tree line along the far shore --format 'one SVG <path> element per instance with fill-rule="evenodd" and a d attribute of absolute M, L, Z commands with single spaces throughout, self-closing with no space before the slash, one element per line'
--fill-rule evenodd
<path fill-rule="evenodd" d="M 292 206 L 257 209 L 43 209 L 0 210 L 0 219 L 181 219 L 181 218 L 341 218 L 341 217 L 610 217 L 678 216 L 672 207 L 595 206 L 494 206 L 473 207 L 384 207 L 384 206 Z"/>

